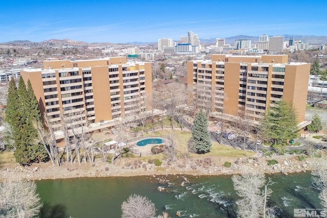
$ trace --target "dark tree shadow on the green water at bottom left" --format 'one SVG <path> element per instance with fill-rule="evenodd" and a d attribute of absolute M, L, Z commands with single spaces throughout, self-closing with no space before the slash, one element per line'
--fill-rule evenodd
<path fill-rule="evenodd" d="M 68 218 L 66 207 L 63 204 L 50 205 L 44 203 L 39 213 L 40 218 Z"/>

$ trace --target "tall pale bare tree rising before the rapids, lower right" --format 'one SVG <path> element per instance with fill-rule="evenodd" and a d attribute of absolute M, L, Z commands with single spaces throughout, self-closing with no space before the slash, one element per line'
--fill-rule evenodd
<path fill-rule="evenodd" d="M 267 199 L 272 193 L 268 188 L 273 182 L 269 179 L 266 183 L 262 172 L 250 168 L 243 168 L 241 175 L 233 175 L 232 181 L 237 195 L 241 198 L 236 201 L 238 217 L 255 218 L 271 217 L 274 208 L 267 207 Z M 264 187 L 264 191 L 261 188 Z"/>

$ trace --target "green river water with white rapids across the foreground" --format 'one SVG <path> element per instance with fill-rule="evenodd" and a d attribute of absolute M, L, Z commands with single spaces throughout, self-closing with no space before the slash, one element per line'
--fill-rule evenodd
<path fill-rule="evenodd" d="M 180 217 L 236 217 L 238 197 L 231 176 L 186 176 L 189 182 L 184 186 L 181 175 L 157 177 L 169 182 L 160 184 L 152 176 L 142 176 L 41 180 L 36 184 L 43 212 L 58 214 L 52 217 L 121 217 L 121 204 L 133 193 L 155 203 L 157 215 L 166 211 L 176 217 L 178 211 Z M 321 207 L 319 192 L 310 187 L 310 173 L 268 177 L 275 182 L 270 186 L 273 193 L 268 203 L 276 206 L 278 217 L 293 217 L 295 208 Z M 159 186 L 167 192 L 158 191 Z"/>

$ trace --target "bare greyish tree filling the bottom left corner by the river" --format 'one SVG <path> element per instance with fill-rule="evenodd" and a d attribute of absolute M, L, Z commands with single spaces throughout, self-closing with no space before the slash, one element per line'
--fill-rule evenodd
<path fill-rule="evenodd" d="M 42 207 L 34 181 L 17 180 L 0 183 L 0 216 L 30 218 Z"/>

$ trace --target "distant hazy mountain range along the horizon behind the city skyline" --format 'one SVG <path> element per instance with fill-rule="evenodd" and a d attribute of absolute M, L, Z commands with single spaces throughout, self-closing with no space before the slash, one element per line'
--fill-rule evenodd
<path fill-rule="evenodd" d="M 293 38 L 295 41 L 301 40 L 302 42 L 308 42 L 309 44 L 327 44 L 327 36 L 313 36 L 313 35 L 284 35 L 285 41 L 288 41 L 290 38 Z M 201 44 L 215 44 L 216 38 L 200 38 Z M 231 36 L 225 38 L 226 44 L 234 44 L 235 40 L 237 39 L 249 39 L 251 40 L 252 44 L 256 44 L 259 41 L 259 36 L 247 36 L 247 35 L 237 35 L 237 36 Z M 29 40 L 14 40 L 4 43 L 16 43 L 16 44 L 24 44 L 24 43 L 37 43 L 37 42 L 31 42 Z M 50 39 L 45 40 L 40 43 L 67 43 L 67 44 L 93 44 L 93 43 L 87 43 L 83 41 L 74 41 L 71 39 Z M 154 42 L 127 42 L 127 43 L 119 43 L 119 44 L 157 44 L 157 41 Z M 116 44 L 116 43 L 112 43 Z"/>

